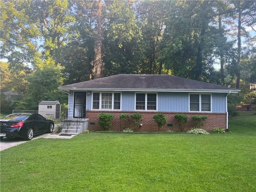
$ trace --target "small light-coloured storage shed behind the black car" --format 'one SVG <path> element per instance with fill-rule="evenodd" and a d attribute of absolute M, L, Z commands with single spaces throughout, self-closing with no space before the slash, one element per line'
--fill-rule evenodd
<path fill-rule="evenodd" d="M 53 119 L 60 118 L 60 102 L 59 101 L 41 101 L 38 104 L 38 114 Z"/>

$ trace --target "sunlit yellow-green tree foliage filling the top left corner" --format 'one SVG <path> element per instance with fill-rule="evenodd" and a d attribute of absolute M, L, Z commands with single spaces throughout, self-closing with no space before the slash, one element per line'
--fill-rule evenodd
<path fill-rule="evenodd" d="M 12 52 L 19 51 L 23 55 L 23 60 L 19 62 L 31 62 L 37 52 L 36 39 L 40 31 L 34 25 L 34 18 L 30 17 L 31 3 L 31 0 L 0 1 L 0 58 L 12 60 Z"/>

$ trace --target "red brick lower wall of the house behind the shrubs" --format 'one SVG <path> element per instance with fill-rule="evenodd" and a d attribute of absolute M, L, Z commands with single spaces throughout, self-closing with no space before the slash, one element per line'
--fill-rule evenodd
<path fill-rule="evenodd" d="M 133 111 L 94 111 L 88 110 L 86 111 L 86 118 L 89 118 L 89 127 L 88 129 L 91 131 L 103 131 L 101 126 L 98 123 L 98 116 L 100 113 L 111 113 L 114 114 L 114 120 L 112 121 L 112 126 L 110 127 L 111 130 L 122 131 L 124 127 L 132 128 L 132 122 L 129 119 L 127 123 L 122 119 L 120 120 L 119 115 L 120 113 L 132 114 Z M 181 112 L 142 112 L 143 121 L 140 122 L 143 124 L 138 132 L 158 132 L 157 123 L 154 122 L 153 116 L 156 113 L 162 113 L 167 118 L 167 124 L 160 128 L 160 132 L 166 132 L 167 130 L 172 130 L 174 132 L 180 132 L 178 123 L 174 118 L 175 114 L 186 114 L 188 115 L 188 122 L 185 125 L 184 132 L 193 128 L 192 124 L 192 116 L 208 116 L 208 119 L 204 122 L 204 126 L 202 127 L 204 130 L 211 132 L 213 128 L 223 128 L 226 130 L 226 113 L 181 113 Z M 94 124 L 94 125 L 92 125 Z"/>

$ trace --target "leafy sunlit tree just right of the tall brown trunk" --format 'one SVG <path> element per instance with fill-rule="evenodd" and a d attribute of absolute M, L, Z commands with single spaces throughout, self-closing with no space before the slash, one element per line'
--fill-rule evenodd
<path fill-rule="evenodd" d="M 140 73 L 142 35 L 136 23 L 134 3 L 132 0 L 105 1 L 105 75 Z"/>

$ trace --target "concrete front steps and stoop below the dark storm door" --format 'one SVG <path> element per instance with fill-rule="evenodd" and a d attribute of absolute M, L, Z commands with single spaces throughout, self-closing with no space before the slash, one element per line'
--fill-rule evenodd
<path fill-rule="evenodd" d="M 60 135 L 77 135 L 88 130 L 88 118 L 64 119 Z"/>

